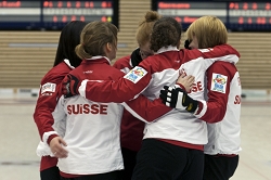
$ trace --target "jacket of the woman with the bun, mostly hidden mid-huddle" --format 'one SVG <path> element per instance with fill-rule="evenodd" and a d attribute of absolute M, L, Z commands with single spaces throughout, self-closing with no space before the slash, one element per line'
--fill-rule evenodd
<path fill-rule="evenodd" d="M 120 69 L 125 74 L 129 73 L 130 69 L 133 68 L 130 55 L 117 60 L 113 66 Z M 138 152 L 141 147 L 144 127 L 145 123 L 136 118 L 127 110 L 124 110 L 124 115 L 120 124 L 121 147 Z"/>

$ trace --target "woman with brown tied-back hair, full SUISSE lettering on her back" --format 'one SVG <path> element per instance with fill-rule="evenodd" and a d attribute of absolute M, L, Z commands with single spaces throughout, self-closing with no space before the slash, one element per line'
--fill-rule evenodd
<path fill-rule="evenodd" d="M 83 61 L 67 77 L 79 76 L 93 81 L 122 77 L 122 72 L 111 66 L 111 61 L 116 56 L 117 31 L 116 26 L 108 22 L 86 25 L 80 44 L 76 47 L 77 55 Z M 62 107 L 59 108 L 59 105 Z M 127 106 L 134 110 L 137 117 L 145 123 L 154 121 L 171 111 L 160 99 L 150 101 L 143 95 L 129 101 Z M 119 132 L 122 110 L 124 105 L 117 103 L 90 101 L 81 95 L 62 97 L 53 114 L 55 121 L 66 119 L 63 140 L 68 154 L 57 163 L 63 180 L 121 179 L 124 164 Z"/>

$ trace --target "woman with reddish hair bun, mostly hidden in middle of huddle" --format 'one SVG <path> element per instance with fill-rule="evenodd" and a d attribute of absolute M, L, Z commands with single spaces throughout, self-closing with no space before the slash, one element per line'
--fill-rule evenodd
<path fill-rule="evenodd" d="M 154 23 L 160 18 L 160 15 L 155 11 L 147 11 L 144 20 L 140 22 L 136 39 L 139 48 L 131 55 L 124 56 L 114 63 L 114 67 L 120 69 L 125 74 L 138 66 L 139 63 L 154 52 L 150 49 L 150 38 Z M 139 152 L 143 139 L 143 130 L 145 123 L 132 116 L 127 110 L 124 110 L 124 115 L 120 125 L 120 145 L 124 157 L 124 180 L 130 180 L 133 168 L 136 166 L 137 153 Z"/>

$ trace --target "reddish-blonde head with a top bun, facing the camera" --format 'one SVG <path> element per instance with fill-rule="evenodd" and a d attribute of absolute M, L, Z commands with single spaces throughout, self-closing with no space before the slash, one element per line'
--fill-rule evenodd
<path fill-rule="evenodd" d="M 144 20 L 140 22 L 136 39 L 139 46 L 143 46 L 150 41 L 151 33 L 153 30 L 154 23 L 162 16 L 156 11 L 147 11 Z"/>

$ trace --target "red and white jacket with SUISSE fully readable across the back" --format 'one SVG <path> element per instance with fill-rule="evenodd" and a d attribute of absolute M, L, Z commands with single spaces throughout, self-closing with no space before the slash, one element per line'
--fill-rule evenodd
<path fill-rule="evenodd" d="M 122 72 L 112 67 L 109 61 L 103 56 L 82 61 L 70 74 L 89 80 L 115 80 L 124 76 Z M 74 176 L 124 169 L 119 143 L 124 106 L 89 101 L 81 95 L 61 99 L 59 104 L 64 108 L 55 108 L 54 120 L 57 123 L 66 118 L 63 139 L 68 151 L 66 158 L 59 159 L 60 170 Z M 159 99 L 152 102 L 143 95 L 130 101 L 128 105 L 139 117 L 150 121 L 171 110 Z"/>

